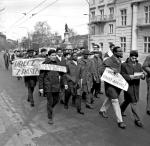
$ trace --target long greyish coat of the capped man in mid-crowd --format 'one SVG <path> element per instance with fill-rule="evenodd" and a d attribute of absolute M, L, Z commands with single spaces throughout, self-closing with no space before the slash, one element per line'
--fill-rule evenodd
<path fill-rule="evenodd" d="M 79 76 L 82 79 L 82 91 L 91 92 L 93 86 L 93 65 L 90 59 L 81 58 L 79 60 Z"/>

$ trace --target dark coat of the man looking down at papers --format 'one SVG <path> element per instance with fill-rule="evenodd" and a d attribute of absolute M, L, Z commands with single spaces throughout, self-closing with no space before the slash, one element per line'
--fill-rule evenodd
<path fill-rule="evenodd" d="M 129 75 L 134 75 L 135 72 L 143 72 L 140 63 L 136 62 L 136 64 L 133 65 L 130 59 L 122 63 L 121 74 L 129 84 L 128 91 L 124 91 L 124 98 L 131 103 L 139 101 L 140 79 L 131 80 L 129 77 Z"/>

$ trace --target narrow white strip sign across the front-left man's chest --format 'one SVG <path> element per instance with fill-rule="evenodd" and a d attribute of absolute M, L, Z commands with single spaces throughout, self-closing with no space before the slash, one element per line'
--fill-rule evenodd
<path fill-rule="evenodd" d="M 52 71 L 59 71 L 59 72 L 67 72 L 67 68 L 65 66 L 60 65 L 53 65 L 53 64 L 41 64 L 40 70 L 52 70 Z"/>

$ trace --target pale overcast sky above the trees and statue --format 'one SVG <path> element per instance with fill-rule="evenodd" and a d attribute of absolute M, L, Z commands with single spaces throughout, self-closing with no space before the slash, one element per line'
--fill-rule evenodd
<path fill-rule="evenodd" d="M 78 34 L 88 33 L 88 4 L 86 0 L 0 0 L 0 31 L 7 38 L 19 39 L 33 31 L 38 21 L 47 21 L 52 32 L 63 36 L 65 23 Z M 43 4 L 40 4 L 42 3 Z M 33 8 L 38 6 L 31 11 Z M 49 7 L 48 7 L 49 6 Z M 45 8 L 47 7 L 47 8 Z M 31 11 L 31 12 L 30 12 Z M 28 13 L 30 12 L 30 13 Z M 28 13 L 24 15 L 23 13 Z M 35 14 L 32 17 L 32 14 Z"/>

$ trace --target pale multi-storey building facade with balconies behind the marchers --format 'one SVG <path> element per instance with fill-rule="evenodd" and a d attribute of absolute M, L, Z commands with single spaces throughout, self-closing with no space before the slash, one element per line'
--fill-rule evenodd
<path fill-rule="evenodd" d="M 91 0 L 89 11 L 90 44 L 103 52 L 114 43 L 124 53 L 150 53 L 150 0 Z"/>

